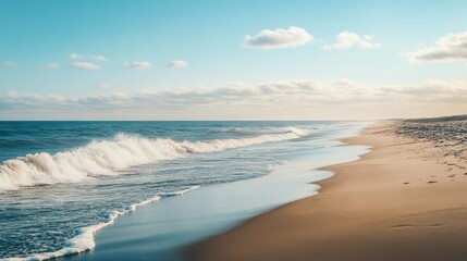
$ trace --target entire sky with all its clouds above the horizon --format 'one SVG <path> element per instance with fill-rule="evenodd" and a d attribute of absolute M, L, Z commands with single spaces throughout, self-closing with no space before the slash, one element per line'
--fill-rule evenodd
<path fill-rule="evenodd" d="M 467 1 L 0 0 L 0 120 L 467 113 Z"/>

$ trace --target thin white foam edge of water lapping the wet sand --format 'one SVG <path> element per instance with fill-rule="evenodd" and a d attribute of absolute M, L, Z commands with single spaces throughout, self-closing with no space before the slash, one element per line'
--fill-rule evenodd
<path fill-rule="evenodd" d="M 199 188 L 199 186 L 193 186 L 191 188 L 187 188 L 187 189 L 184 189 L 181 191 L 163 194 L 161 196 L 162 197 L 163 196 L 165 196 L 165 197 L 168 197 L 168 196 L 181 196 L 181 195 L 183 195 L 187 191 L 191 191 L 193 189 L 196 189 L 196 188 Z M 99 232 L 100 229 L 102 229 L 106 226 L 113 224 L 120 215 L 126 214 L 128 212 L 133 212 L 142 206 L 158 201 L 159 199 L 161 199 L 161 196 L 156 196 L 153 198 L 144 200 L 139 203 L 131 204 L 131 206 L 128 206 L 128 208 L 126 208 L 123 211 L 112 211 L 111 213 L 109 213 L 108 220 L 106 222 L 79 228 L 78 235 L 69 239 L 65 244 L 65 247 L 60 249 L 60 250 L 57 250 L 54 252 L 35 253 L 35 254 L 32 254 L 32 256 L 25 257 L 25 258 L 8 258 L 8 259 L 3 259 L 3 260 L 5 260 L 5 261 L 50 260 L 50 259 L 56 259 L 56 258 L 60 258 L 60 257 L 66 257 L 66 256 L 72 256 L 72 254 L 89 251 L 96 247 L 96 241 L 95 241 L 94 236 L 96 235 L 97 232 Z"/>

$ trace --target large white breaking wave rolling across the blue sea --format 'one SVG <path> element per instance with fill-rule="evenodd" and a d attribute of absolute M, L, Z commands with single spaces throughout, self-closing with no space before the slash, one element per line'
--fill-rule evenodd
<path fill-rule="evenodd" d="M 110 140 L 91 141 L 85 147 L 56 154 L 41 152 L 7 160 L 0 165 L 0 191 L 25 186 L 78 183 L 99 175 L 120 174 L 131 166 L 189 154 L 295 139 L 305 135 L 306 130 L 295 127 L 284 128 L 282 133 L 250 138 L 212 141 L 175 141 L 119 134 Z"/>

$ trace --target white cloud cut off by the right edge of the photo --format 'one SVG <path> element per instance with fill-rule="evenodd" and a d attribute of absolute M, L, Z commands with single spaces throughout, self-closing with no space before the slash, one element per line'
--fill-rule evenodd
<path fill-rule="evenodd" d="M 409 62 L 467 61 L 467 32 L 448 34 L 437 40 L 434 47 L 420 48 L 406 54 Z"/>

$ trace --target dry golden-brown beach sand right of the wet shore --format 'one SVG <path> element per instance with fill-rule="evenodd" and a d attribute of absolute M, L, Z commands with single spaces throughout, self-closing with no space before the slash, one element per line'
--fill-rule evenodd
<path fill-rule="evenodd" d="M 466 126 L 377 123 L 345 140 L 372 151 L 327 167 L 336 175 L 318 196 L 198 243 L 189 259 L 467 260 Z"/>

